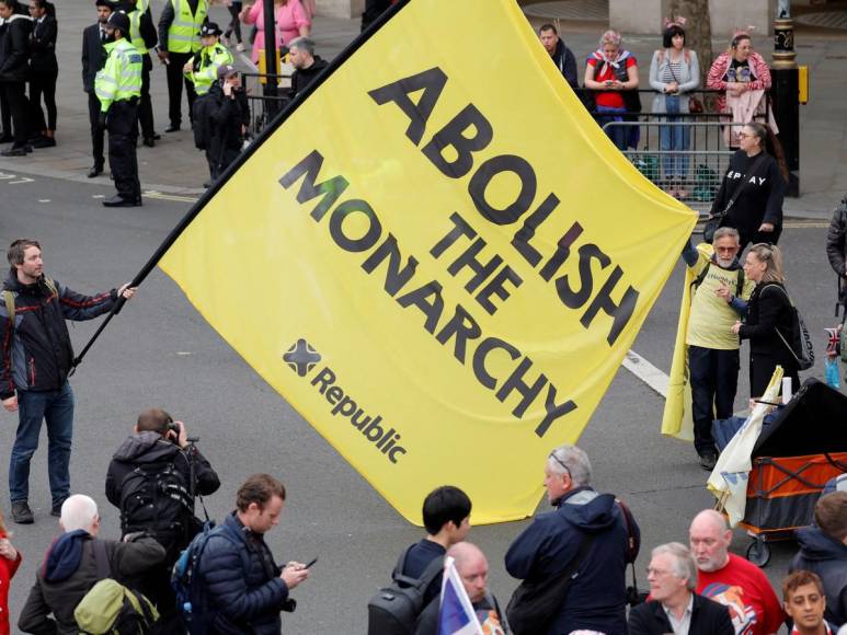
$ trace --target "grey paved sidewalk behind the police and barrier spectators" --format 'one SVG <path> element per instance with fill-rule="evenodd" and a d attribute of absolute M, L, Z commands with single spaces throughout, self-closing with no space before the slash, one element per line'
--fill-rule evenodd
<path fill-rule="evenodd" d="M 320 0 L 319 0 L 320 1 Z M 595 0 L 577 0 L 593 2 Z M 153 0 L 152 13 L 158 21 L 163 0 Z M 594 18 L 594 14 L 588 12 Z M 107 183 L 105 176 L 85 177 L 92 164 L 89 136 L 88 102 L 82 92 L 80 50 L 82 30 L 95 20 L 91 0 L 62 0 L 58 7 L 59 19 L 59 80 L 57 102 L 59 122 L 56 148 L 36 150 L 26 158 L 0 160 L 0 170 L 37 174 L 79 181 Z M 229 14 L 224 7 L 213 7 L 210 18 L 221 27 Z M 530 23 L 538 27 L 543 16 L 533 16 Z M 597 38 L 605 24 L 597 20 L 565 20 L 561 23 L 562 36 L 577 60 L 596 48 Z M 312 25 L 318 54 L 335 57 L 357 34 L 358 20 L 316 16 Z M 248 28 L 244 28 L 247 35 Z M 847 193 L 847 32 L 823 28 L 798 27 L 798 62 L 809 66 L 811 102 L 800 109 L 800 188 L 799 198 L 786 199 L 786 213 L 805 218 L 828 220 L 832 209 Z M 640 60 L 641 83 L 646 85 L 646 73 L 653 49 L 660 36 L 626 37 L 625 45 Z M 716 50 L 723 45 L 716 38 Z M 754 41 L 757 50 L 769 58 L 772 42 L 767 37 Z M 250 70 L 249 50 L 239 55 L 231 49 L 241 70 Z M 197 195 L 201 184 L 208 177 L 206 161 L 194 148 L 192 131 L 184 125 L 179 132 L 165 135 L 168 127 L 168 90 L 164 70 L 157 62 L 151 74 L 151 95 L 157 130 L 162 139 L 156 148 L 139 145 L 138 164 L 145 190 L 173 195 Z M 184 97 L 183 97 L 184 100 Z M 187 105 L 183 101 L 183 124 L 187 122 Z"/>

